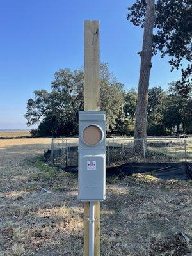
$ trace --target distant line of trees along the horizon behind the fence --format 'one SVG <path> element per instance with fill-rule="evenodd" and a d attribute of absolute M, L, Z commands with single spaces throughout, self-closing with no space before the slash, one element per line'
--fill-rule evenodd
<path fill-rule="evenodd" d="M 160 86 L 149 89 L 147 135 L 165 136 L 175 132 L 192 132 L 191 84 L 172 82 L 164 91 Z M 84 109 L 84 71 L 60 69 L 54 74 L 51 92 L 36 90 L 27 102 L 27 125 L 38 124 L 33 136 L 76 136 L 78 111 Z M 136 90 L 125 90 L 109 71 L 100 65 L 100 108 L 107 111 L 108 135 L 134 134 L 137 106 Z"/>

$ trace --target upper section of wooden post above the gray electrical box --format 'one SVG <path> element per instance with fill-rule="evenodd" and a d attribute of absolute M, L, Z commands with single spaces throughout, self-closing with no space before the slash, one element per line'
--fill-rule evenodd
<path fill-rule="evenodd" d="M 99 21 L 84 21 L 84 110 L 100 109 Z"/>

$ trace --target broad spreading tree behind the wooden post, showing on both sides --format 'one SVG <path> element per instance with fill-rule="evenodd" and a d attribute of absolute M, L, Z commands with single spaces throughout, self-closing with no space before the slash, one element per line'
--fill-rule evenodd
<path fill-rule="evenodd" d="M 78 111 L 84 107 L 83 69 L 60 69 L 54 74 L 51 92 L 35 91 L 35 99 L 27 103 L 27 125 L 39 124 L 33 135 L 73 136 L 77 134 Z M 108 131 L 115 129 L 116 118 L 124 118 L 124 86 L 109 72 L 108 65 L 100 67 L 101 109 L 108 113 Z"/>

